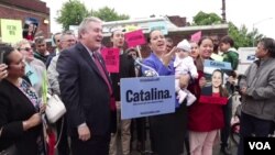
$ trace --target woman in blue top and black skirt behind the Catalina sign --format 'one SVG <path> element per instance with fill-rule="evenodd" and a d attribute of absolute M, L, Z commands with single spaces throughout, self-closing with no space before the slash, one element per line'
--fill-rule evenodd
<path fill-rule="evenodd" d="M 158 30 L 154 30 L 148 34 L 147 43 L 152 53 L 143 60 L 143 64 L 151 67 L 151 69 L 142 67 L 142 73 L 144 75 L 160 76 L 175 75 L 173 57 L 175 57 L 176 48 L 174 47 L 170 52 L 165 53 L 166 41 Z M 183 75 L 180 78 L 182 85 L 187 86 L 189 78 L 188 75 Z M 151 144 L 157 155 L 179 155 L 183 153 L 187 108 L 186 103 L 177 103 L 177 106 L 175 113 L 148 118 Z"/>

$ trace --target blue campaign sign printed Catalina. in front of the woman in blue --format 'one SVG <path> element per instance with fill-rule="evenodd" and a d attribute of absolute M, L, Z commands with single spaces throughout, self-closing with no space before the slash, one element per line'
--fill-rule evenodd
<path fill-rule="evenodd" d="M 121 119 L 175 112 L 175 76 L 122 78 Z"/>

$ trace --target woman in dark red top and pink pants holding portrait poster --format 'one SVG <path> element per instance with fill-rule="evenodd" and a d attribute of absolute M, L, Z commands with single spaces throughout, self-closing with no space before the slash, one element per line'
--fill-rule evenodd
<path fill-rule="evenodd" d="M 202 37 L 198 42 L 199 57 L 195 59 L 198 69 L 198 80 L 190 85 L 189 89 L 197 97 L 197 101 L 188 109 L 188 129 L 190 154 L 211 155 L 215 141 L 219 130 L 224 126 L 222 104 L 200 100 L 201 96 L 210 98 L 227 97 L 222 88 L 222 73 L 215 70 L 211 76 L 212 84 L 206 87 L 206 75 L 204 74 L 204 62 L 211 59 L 213 42 L 210 37 Z"/>

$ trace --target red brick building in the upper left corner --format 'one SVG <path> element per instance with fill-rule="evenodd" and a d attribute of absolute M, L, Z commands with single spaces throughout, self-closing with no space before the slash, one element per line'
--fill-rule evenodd
<path fill-rule="evenodd" d="M 26 19 L 35 20 L 36 33 L 50 36 L 50 9 L 40 0 L 0 0 L 0 19 L 21 20 L 22 26 Z"/>

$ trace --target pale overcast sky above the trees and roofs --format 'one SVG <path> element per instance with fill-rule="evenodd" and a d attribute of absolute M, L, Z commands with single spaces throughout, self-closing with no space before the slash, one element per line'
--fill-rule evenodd
<path fill-rule="evenodd" d="M 68 0 L 42 0 L 51 10 L 51 31 L 62 31 L 56 23 L 58 10 Z M 199 11 L 221 14 L 222 0 L 79 0 L 87 9 L 98 10 L 102 7 L 113 8 L 120 14 L 128 14 L 130 19 L 148 18 L 152 14 L 186 16 L 193 21 Z M 275 11 L 273 0 L 226 0 L 227 21 L 237 26 L 244 24 L 249 31 L 257 29 L 265 36 L 275 38 Z"/>

